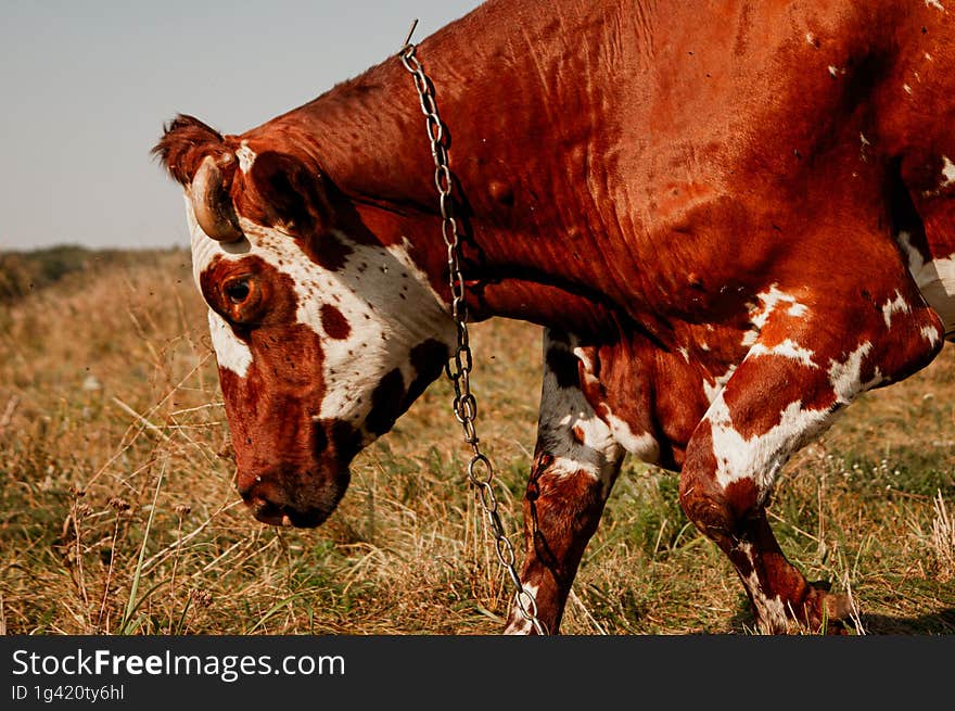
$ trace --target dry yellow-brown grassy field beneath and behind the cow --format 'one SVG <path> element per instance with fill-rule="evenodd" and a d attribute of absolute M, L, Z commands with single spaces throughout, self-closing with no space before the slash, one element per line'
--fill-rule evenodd
<path fill-rule="evenodd" d="M 500 630 L 510 591 L 466 484 L 444 380 L 359 455 L 322 528 L 267 528 L 232 487 L 188 253 L 14 281 L 0 299 L 0 632 Z M 518 542 L 540 334 L 495 321 L 473 342 L 479 430 Z M 955 634 L 953 444 L 950 345 L 787 467 L 771 509 L 782 548 L 811 580 L 852 593 L 860 634 Z M 754 634 L 735 572 L 676 491 L 675 475 L 627 461 L 565 634 Z"/>

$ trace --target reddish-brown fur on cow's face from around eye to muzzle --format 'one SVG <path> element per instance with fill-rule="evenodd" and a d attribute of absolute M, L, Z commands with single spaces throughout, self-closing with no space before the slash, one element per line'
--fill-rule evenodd
<path fill-rule="evenodd" d="M 238 487 L 259 518 L 279 522 L 291 515 L 297 524 L 316 525 L 344 494 L 347 479 L 342 475 L 360 437 L 347 423 L 313 420 L 324 391 L 321 368 L 316 367 L 322 346 L 308 327 L 289 326 L 297 309 L 291 279 L 258 257 L 214 262 L 201 276 L 202 291 L 215 310 L 233 321 L 237 306 L 219 285 L 237 276 L 256 281 L 268 304 L 262 316 L 232 327 L 252 352 L 250 372 L 240 378 L 219 369 Z M 282 426 L 275 427 L 277 421 Z M 326 466 L 316 468 L 316 459 Z"/>

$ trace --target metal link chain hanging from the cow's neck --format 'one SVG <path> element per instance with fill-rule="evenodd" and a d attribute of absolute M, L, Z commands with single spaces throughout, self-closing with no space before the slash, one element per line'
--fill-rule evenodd
<path fill-rule="evenodd" d="M 527 620 L 537 634 L 546 634 L 544 625 L 537 619 L 537 601 L 534 594 L 524 588 L 521 577 L 518 575 L 514 566 L 517 556 L 514 546 L 505 535 L 504 525 L 500 522 L 500 516 L 497 512 L 497 498 L 494 495 L 494 466 L 491 459 L 481 452 L 479 446 L 480 440 L 474 426 L 478 418 L 478 401 L 471 392 L 471 369 L 473 358 L 471 357 L 471 345 L 468 337 L 468 307 L 464 302 L 464 277 L 460 267 L 461 240 L 458 227 L 458 220 L 454 214 L 454 200 L 451 191 L 454 189 L 454 179 L 450 168 L 448 167 L 447 141 L 445 138 L 444 124 L 437 113 L 437 103 L 434 99 L 434 87 L 431 80 L 424 74 L 424 69 L 418 58 L 415 56 L 417 46 L 411 43 L 411 34 L 415 31 L 415 24 L 411 25 L 411 31 L 402 47 L 398 55 L 402 64 L 411 74 L 415 79 L 415 88 L 418 90 L 418 99 L 421 103 L 421 112 L 424 114 L 425 126 L 428 129 L 428 139 L 431 143 L 431 155 L 434 158 L 434 185 L 437 188 L 437 194 L 441 206 L 441 233 L 444 237 L 447 246 L 447 265 L 448 265 L 448 284 L 451 292 L 451 317 L 455 319 L 457 329 L 457 348 L 454 359 L 449 359 L 445 364 L 445 374 L 451 381 L 455 388 L 454 411 L 458 422 L 464 432 L 464 442 L 471 446 L 471 461 L 468 464 L 468 480 L 473 486 L 478 487 L 481 499 L 481 507 L 487 517 L 487 523 L 494 534 L 495 550 L 497 559 L 505 570 L 517 592 L 514 593 L 514 605 L 521 615 Z"/>

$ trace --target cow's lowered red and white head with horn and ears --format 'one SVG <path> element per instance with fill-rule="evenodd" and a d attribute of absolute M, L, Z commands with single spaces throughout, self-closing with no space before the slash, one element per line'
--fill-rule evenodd
<path fill-rule="evenodd" d="M 188 116 L 154 152 L 186 192 L 239 492 L 260 521 L 318 525 L 353 457 L 441 373 L 446 307 L 307 154 Z"/>

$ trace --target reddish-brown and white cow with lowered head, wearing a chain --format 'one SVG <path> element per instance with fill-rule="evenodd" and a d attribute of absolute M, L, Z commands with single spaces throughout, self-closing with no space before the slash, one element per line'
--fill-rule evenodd
<path fill-rule="evenodd" d="M 780 469 L 955 334 L 948 0 L 489 0 L 412 46 L 471 321 L 543 327 L 520 577 L 557 633 L 621 462 L 679 472 L 757 629 L 845 631 L 767 521 Z M 394 48 L 392 48 L 394 49 Z M 180 114 L 237 487 L 317 526 L 456 345 L 399 54 L 242 134 Z M 434 130 L 434 129 L 429 129 Z"/>

